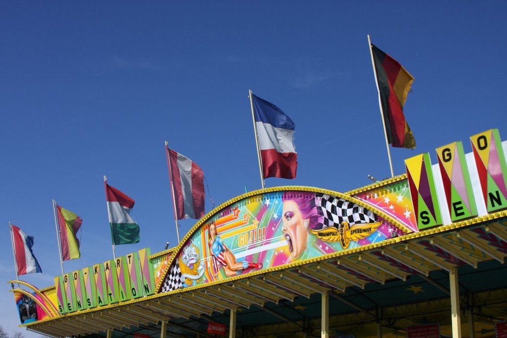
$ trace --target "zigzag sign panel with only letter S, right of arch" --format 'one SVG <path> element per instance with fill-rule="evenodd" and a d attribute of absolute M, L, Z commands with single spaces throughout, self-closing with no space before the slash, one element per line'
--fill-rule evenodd
<path fill-rule="evenodd" d="M 417 219 L 417 229 L 423 230 L 440 226 L 442 214 L 440 213 L 429 154 L 424 153 L 405 160 L 405 168 Z"/>

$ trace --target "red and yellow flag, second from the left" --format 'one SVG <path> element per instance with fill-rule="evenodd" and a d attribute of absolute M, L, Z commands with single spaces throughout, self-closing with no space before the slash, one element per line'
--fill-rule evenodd
<path fill-rule="evenodd" d="M 62 248 L 62 260 L 76 259 L 81 257 L 79 252 L 79 240 L 76 237 L 83 220 L 74 212 L 56 205 L 56 216 L 60 230 L 60 243 Z"/>

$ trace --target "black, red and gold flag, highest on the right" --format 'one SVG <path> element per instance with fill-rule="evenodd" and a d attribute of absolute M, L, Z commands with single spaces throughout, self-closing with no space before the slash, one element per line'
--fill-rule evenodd
<path fill-rule="evenodd" d="M 372 51 L 387 139 L 393 147 L 415 148 L 414 135 L 403 115 L 403 105 L 414 78 L 373 44 Z"/>

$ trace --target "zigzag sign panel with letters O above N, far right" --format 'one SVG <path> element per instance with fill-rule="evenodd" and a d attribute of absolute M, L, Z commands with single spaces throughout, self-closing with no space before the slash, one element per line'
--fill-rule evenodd
<path fill-rule="evenodd" d="M 498 129 L 470 137 L 488 213 L 507 208 L 507 164 Z"/>

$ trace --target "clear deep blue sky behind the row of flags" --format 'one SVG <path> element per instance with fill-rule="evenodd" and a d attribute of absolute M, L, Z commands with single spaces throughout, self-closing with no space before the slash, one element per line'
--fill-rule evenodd
<path fill-rule="evenodd" d="M 164 141 L 204 170 L 216 205 L 260 189 L 248 90 L 296 124 L 297 178 L 347 192 L 390 176 L 367 34 L 415 81 L 414 151 L 498 128 L 507 139 L 504 1 L 0 3 L 0 281 L 15 279 L 8 223 L 35 238 L 39 288 L 61 274 L 52 200 L 83 218 L 82 258 L 113 256 L 103 175 L 141 228 L 117 255 L 177 244 Z M 206 211 L 212 207 L 206 201 Z M 180 221 L 180 236 L 195 220 Z M 10 286 L 0 325 L 22 331 Z"/>

